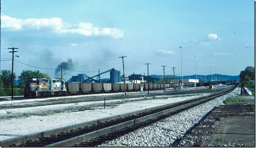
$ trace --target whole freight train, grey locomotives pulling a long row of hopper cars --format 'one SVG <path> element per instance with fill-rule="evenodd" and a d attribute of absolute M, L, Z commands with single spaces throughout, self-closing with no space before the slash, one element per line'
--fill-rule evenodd
<path fill-rule="evenodd" d="M 209 86 L 213 83 L 197 83 L 198 86 Z M 216 82 L 219 84 L 219 82 Z M 147 84 L 125 84 L 127 92 L 148 90 Z M 174 83 L 165 84 L 165 88 L 173 88 Z M 176 83 L 176 87 L 181 83 Z M 194 86 L 193 82 L 183 83 L 183 86 Z M 116 83 L 65 83 L 60 79 L 31 78 L 26 81 L 24 97 L 38 98 L 48 96 L 65 96 L 68 94 L 92 94 L 124 92 L 124 84 Z M 149 84 L 149 90 L 164 89 L 164 84 Z"/>

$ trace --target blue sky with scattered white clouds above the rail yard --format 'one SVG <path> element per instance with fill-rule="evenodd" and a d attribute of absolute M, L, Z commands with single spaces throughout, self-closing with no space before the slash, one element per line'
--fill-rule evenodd
<path fill-rule="evenodd" d="M 127 56 L 126 76 L 147 75 L 145 63 L 151 63 L 149 75 L 163 75 L 162 65 L 165 75 L 173 75 L 172 67 L 181 75 L 182 50 L 183 76 L 235 76 L 255 66 L 254 5 L 252 0 L 1 0 L 0 68 L 12 69 L 8 48 L 14 47 L 17 76 L 39 70 L 60 77 L 55 68 L 61 63 L 73 70 L 63 70 L 67 80 L 97 75 L 99 69 L 123 73 L 120 56 Z"/>

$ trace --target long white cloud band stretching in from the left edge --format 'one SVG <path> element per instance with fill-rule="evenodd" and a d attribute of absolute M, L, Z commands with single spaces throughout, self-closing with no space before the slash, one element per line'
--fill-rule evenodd
<path fill-rule="evenodd" d="M 76 33 L 85 36 L 108 36 L 121 38 L 124 33 L 118 28 L 99 28 L 94 27 L 91 23 L 80 22 L 79 24 L 70 25 L 63 22 L 61 18 L 29 18 L 25 20 L 1 16 L 1 28 L 10 31 L 17 30 L 45 30 L 50 29 L 56 33 Z"/>

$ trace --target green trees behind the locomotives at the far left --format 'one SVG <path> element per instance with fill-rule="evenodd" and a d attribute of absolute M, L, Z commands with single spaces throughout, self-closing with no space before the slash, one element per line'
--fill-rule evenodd
<path fill-rule="evenodd" d="M 48 73 L 41 73 L 38 70 L 23 70 L 18 76 L 19 85 L 13 83 L 13 95 L 21 96 L 24 94 L 24 87 L 26 80 L 33 77 L 50 79 Z M 17 79 L 16 73 L 13 73 L 13 80 Z M 0 71 L 0 96 L 11 96 L 12 94 L 12 71 L 1 70 Z"/>

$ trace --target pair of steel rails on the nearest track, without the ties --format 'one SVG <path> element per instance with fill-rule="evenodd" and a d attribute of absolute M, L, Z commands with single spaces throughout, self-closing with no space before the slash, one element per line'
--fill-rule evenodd
<path fill-rule="evenodd" d="M 197 103 L 200 103 L 200 102 L 204 102 L 204 101 L 211 100 L 213 98 L 219 97 L 223 94 L 231 92 L 232 90 L 234 90 L 236 88 L 236 86 L 233 87 L 231 90 L 227 90 L 227 91 L 224 91 L 224 92 L 221 92 L 221 93 L 212 94 L 212 95 L 199 97 L 199 98 L 192 98 L 192 99 L 189 99 L 189 100 L 178 102 L 178 103 L 185 103 L 185 102 L 197 100 L 194 103 L 190 102 L 190 103 L 187 103 L 186 105 L 181 105 L 181 106 L 175 107 L 175 109 L 184 108 L 185 106 L 191 106 L 192 104 L 197 104 Z M 206 98 L 206 99 L 203 99 L 203 98 Z M 89 121 L 89 122 L 74 124 L 74 125 L 71 125 L 71 126 L 56 128 L 56 129 L 53 129 L 53 130 L 38 132 L 38 133 L 35 133 L 35 134 L 29 134 L 29 135 L 25 135 L 25 136 L 21 136 L 21 137 L 17 137 L 17 138 L 7 139 L 7 140 L 0 141 L 0 146 L 6 147 L 6 146 L 9 146 L 9 145 L 13 145 L 13 144 L 15 146 L 15 145 L 18 145 L 18 144 L 21 144 L 21 143 L 25 143 L 25 141 L 34 140 L 34 139 L 38 139 L 38 138 L 43 138 L 43 137 L 47 137 L 47 136 L 57 134 L 57 133 L 60 133 L 60 132 L 74 130 L 74 129 L 77 129 L 77 128 L 90 126 L 90 125 L 93 125 L 93 124 L 99 124 L 99 123 L 103 123 L 103 122 L 106 122 L 106 121 L 131 116 L 131 115 L 134 115 L 134 114 L 140 114 L 140 113 L 143 113 L 145 111 L 155 110 L 155 109 L 158 109 L 160 107 L 167 107 L 167 106 L 171 106 L 171 105 L 175 105 L 175 104 L 177 104 L 177 102 L 176 103 L 170 103 L 170 104 L 167 104 L 167 105 L 151 107 L 151 108 L 144 109 L 144 110 L 133 111 L 131 113 L 125 113 L 125 114 L 115 115 L 115 116 L 112 116 L 112 117 L 97 119 L 97 120 L 93 120 L 93 121 Z M 109 126 L 107 128 L 104 128 L 104 129 L 100 129 L 100 130 L 97 130 L 97 131 L 92 131 L 92 132 L 89 132 L 87 134 L 79 135 L 79 136 L 76 136 L 74 138 L 66 139 L 66 140 L 59 141 L 57 143 L 53 143 L 53 144 L 49 144 L 49 145 L 45 145 L 45 146 L 69 146 L 69 145 L 73 145 L 73 144 L 75 144 L 79 141 L 92 139 L 96 136 L 106 134 L 106 133 L 111 132 L 113 130 L 121 129 L 125 126 L 129 126 L 131 124 L 135 124 L 135 123 L 141 122 L 143 120 L 147 120 L 149 118 L 153 118 L 153 117 L 159 116 L 161 114 L 171 112 L 173 110 L 174 110 L 174 108 L 171 108 L 171 109 L 168 109 L 168 110 L 165 110 L 165 111 L 160 111 L 160 112 L 152 114 L 152 115 L 147 115 L 145 117 L 133 119 L 133 120 L 123 122 L 123 123 L 119 123 L 119 124 Z"/>

